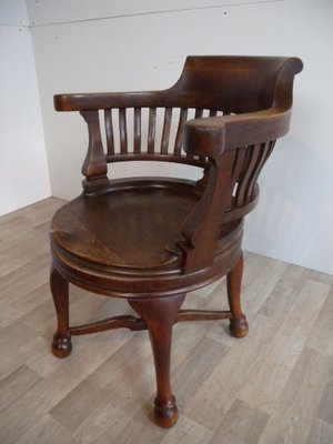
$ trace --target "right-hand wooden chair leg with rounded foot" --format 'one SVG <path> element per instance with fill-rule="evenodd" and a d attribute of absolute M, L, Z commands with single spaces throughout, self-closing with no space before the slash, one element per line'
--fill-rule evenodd
<path fill-rule="evenodd" d="M 249 324 L 241 307 L 241 284 L 243 275 L 243 253 L 238 263 L 226 275 L 226 290 L 232 319 L 230 320 L 229 331 L 234 337 L 243 337 L 249 332 Z"/>

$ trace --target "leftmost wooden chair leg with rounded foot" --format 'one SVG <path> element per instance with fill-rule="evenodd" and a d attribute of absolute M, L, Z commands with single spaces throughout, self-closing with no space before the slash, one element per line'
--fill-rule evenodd
<path fill-rule="evenodd" d="M 72 351 L 69 334 L 69 282 L 52 265 L 50 286 L 57 311 L 58 329 L 53 335 L 52 353 L 57 357 L 65 357 Z"/>

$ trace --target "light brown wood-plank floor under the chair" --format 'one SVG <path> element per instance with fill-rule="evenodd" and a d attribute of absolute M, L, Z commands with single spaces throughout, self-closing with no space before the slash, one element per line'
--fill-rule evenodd
<path fill-rule="evenodd" d="M 0 443 L 333 443 L 332 276 L 245 255 L 250 333 L 228 322 L 174 327 L 171 430 L 152 422 L 154 369 L 147 332 L 73 339 L 50 352 L 56 327 L 48 284 L 48 199 L 0 218 Z M 226 307 L 225 282 L 186 306 Z M 72 323 L 130 312 L 125 302 L 71 292 Z"/>

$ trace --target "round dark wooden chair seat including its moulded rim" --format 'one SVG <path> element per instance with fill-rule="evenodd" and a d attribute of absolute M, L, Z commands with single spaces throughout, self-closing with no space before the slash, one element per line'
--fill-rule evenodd
<path fill-rule="evenodd" d="M 103 192 L 82 194 L 54 214 L 50 232 L 54 261 L 70 282 L 92 291 L 101 286 L 103 293 L 124 297 L 152 291 L 179 293 L 184 276 L 181 230 L 201 196 L 202 189 L 186 180 L 110 182 Z M 239 256 L 241 236 L 240 220 L 223 224 L 215 266 L 205 271 L 206 278 L 193 273 L 189 280 L 188 273 L 184 286 L 201 286 L 205 279 L 225 274 L 224 256 Z M 159 292 L 151 290 L 152 280 Z"/>

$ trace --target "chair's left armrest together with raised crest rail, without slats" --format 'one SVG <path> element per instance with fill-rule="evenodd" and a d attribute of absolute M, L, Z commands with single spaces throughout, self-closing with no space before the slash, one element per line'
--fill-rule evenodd
<path fill-rule="evenodd" d="M 54 95 L 58 111 L 109 108 L 201 108 L 253 112 L 273 104 L 289 108 L 297 58 L 190 56 L 179 81 L 163 91 Z"/>

